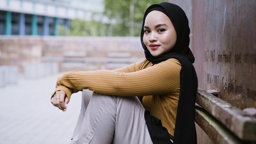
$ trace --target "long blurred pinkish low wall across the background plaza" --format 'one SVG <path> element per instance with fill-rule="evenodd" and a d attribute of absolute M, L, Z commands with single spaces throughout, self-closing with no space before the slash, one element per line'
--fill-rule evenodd
<path fill-rule="evenodd" d="M 0 65 L 57 62 L 60 71 L 115 69 L 145 58 L 140 37 L 0 36 Z"/>

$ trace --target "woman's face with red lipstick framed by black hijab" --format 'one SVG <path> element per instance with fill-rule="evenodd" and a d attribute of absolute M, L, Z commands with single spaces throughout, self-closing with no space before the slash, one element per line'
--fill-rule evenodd
<path fill-rule="evenodd" d="M 151 11 L 144 24 L 143 42 L 153 56 L 171 50 L 177 39 L 173 23 L 160 11 Z"/>

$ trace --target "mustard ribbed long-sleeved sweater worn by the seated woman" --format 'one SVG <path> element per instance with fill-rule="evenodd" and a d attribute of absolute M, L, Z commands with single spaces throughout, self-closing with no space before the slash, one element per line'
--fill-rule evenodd
<path fill-rule="evenodd" d="M 173 138 L 180 70 L 180 62 L 171 58 L 154 66 L 145 59 L 112 71 L 70 71 L 58 78 L 55 91 L 64 90 L 68 99 L 72 93 L 83 89 L 106 95 L 144 96 L 143 107 L 161 119 Z"/>

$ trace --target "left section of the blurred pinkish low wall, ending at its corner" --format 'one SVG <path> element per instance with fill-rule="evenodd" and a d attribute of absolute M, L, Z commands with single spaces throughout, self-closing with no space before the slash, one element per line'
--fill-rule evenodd
<path fill-rule="evenodd" d="M 24 71 L 27 63 L 38 63 L 42 56 L 42 40 L 32 36 L 0 36 L 0 66 L 18 65 Z"/>

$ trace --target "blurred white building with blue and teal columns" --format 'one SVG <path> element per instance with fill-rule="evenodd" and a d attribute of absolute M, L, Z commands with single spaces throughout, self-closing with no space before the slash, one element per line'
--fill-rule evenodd
<path fill-rule="evenodd" d="M 70 19 L 102 15 L 102 0 L 1 0 L 0 35 L 59 36 L 69 34 Z"/>

